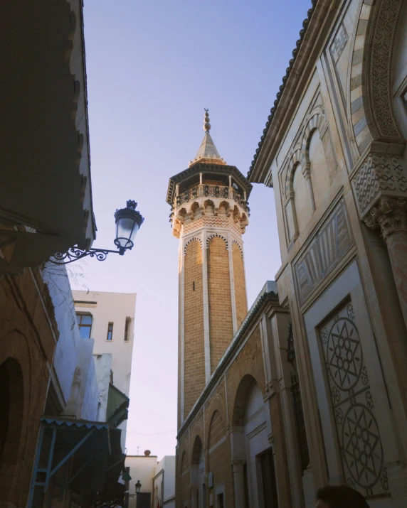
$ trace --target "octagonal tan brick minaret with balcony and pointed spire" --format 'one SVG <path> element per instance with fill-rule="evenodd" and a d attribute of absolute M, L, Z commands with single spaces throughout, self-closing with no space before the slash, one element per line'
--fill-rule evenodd
<path fill-rule="evenodd" d="M 205 134 L 189 168 L 169 179 L 179 238 L 178 423 L 184 422 L 248 311 L 242 234 L 252 185 Z"/>

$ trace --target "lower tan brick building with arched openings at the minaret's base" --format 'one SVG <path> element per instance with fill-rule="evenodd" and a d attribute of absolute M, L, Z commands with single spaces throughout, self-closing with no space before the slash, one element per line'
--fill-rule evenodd
<path fill-rule="evenodd" d="M 289 319 L 274 290 L 266 283 L 179 428 L 177 508 L 248 508 L 263 499 L 288 508 L 300 495 Z"/>

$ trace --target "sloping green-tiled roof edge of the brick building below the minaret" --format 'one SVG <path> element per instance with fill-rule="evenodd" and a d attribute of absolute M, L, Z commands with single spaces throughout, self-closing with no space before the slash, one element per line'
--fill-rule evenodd
<path fill-rule="evenodd" d="M 271 301 L 277 303 L 278 305 L 277 284 L 275 283 L 275 281 L 267 281 L 265 283 L 262 291 L 260 291 L 260 294 L 253 303 L 253 306 L 250 307 L 250 310 L 248 311 L 245 319 L 243 320 L 243 323 L 238 328 L 238 331 L 234 335 L 231 344 L 229 345 L 228 349 L 221 358 L 221 361 L 218 363 L 218 367 L 216 367 L 216 369 L 213 371 L 211 379 L 209 379 L 208 383 L 206 384 L 206 387 L 203 389 L 201 395 L 199 396 L 199 399 L 196 401 L 189 415 L 185 418 L 184 423 L 182 423 L 181 427 L 179 428 L 178 435 L 176 436 L 177 440 L 179 440 L 186 431 L 186 429 L 189 428 L 189 425 L 194 420 L 196 414 L 198 414 L 199 411 L 201 410 L 201 407 L 203 406 L 203 403 L 206 400 L 207 396 L 211 393 L 212 389 L 216 387 L 216 384 L 218 383 L 219 379 L 221 379 L 221 377 L 224 374 L 228 362 L 231 360 L 234 353 L 238 350 L 243 340 L 245 340 L 246 332 L 248 331 L 248 329 L 259 317 L 260 312 L 264 310 L 266 304 Z"/>

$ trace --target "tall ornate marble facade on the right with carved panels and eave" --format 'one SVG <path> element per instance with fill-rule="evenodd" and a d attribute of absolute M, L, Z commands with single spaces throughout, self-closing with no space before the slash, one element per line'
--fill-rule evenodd
<path fill-rule="evenodd" d="M 344 483 L 398 508 L 407 504 L 407 4 L 319 0 L 309 15 L 249 173 L 274 183 L 278 295 L 312 443 L 297 506 Z"/>

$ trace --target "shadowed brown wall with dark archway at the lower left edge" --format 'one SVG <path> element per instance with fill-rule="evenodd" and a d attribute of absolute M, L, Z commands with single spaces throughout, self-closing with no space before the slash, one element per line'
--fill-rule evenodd
<path fill-rule="evenodd" d="M 47 363 L 52 364 L 56 347 L 50 302 L 38 270 L 27 269 L 0 281 L 0 367 L 8 369 L 11 388 L 9 427 L 0 459 L 0 507 L 26 506 L 48 389 Z"/>

